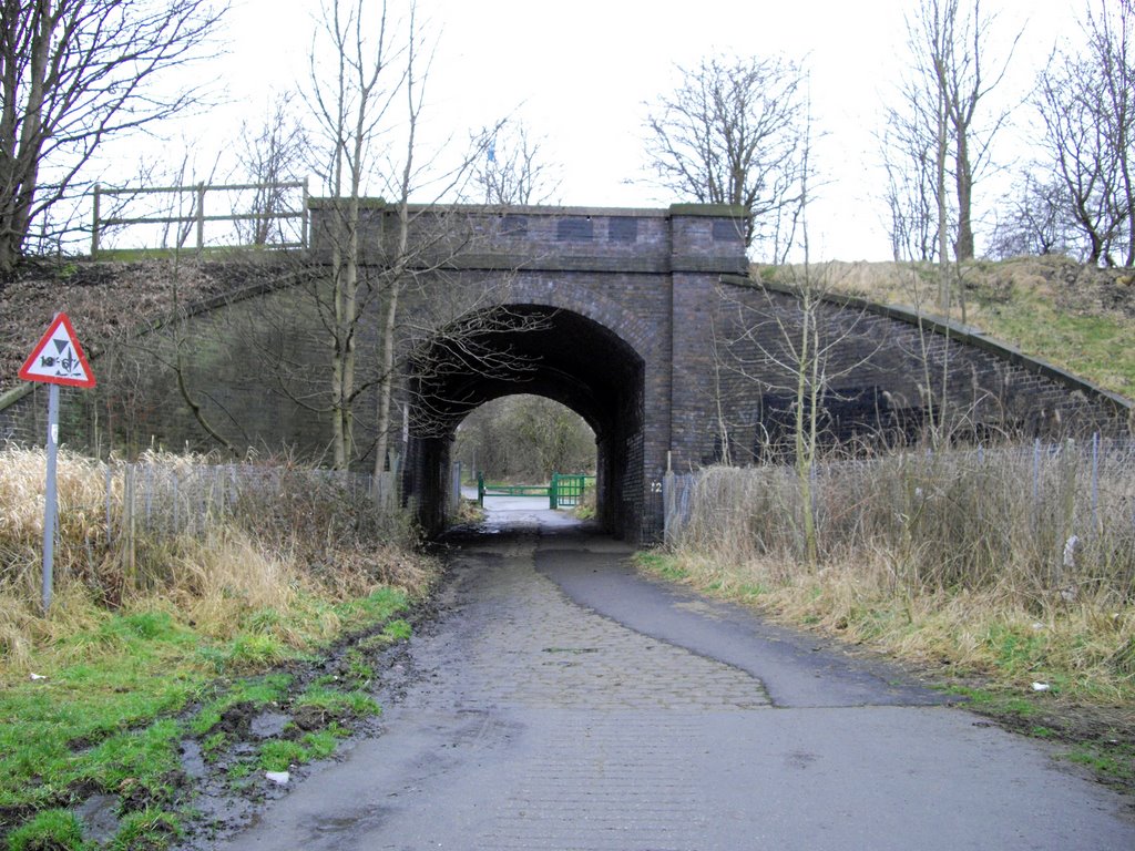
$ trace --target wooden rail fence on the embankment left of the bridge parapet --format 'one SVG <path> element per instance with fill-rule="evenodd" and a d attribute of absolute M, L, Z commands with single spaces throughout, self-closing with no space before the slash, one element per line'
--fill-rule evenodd
<path fill-rule="evenodd" d="M 280 192 L 285 197 L 287 191 L 302 189 L 299 204 L 283 204 L 277 209 L 268 209 L 253 212 L 234 212 L 225 214 L 205 214 L 205 195 L 208 193 L 232 193 L 232 192 Z M 205 244 L 205 222 L 209 221 L 287 221 L 299 220 L 299 238 L 292 242 L 259 242 L 253 243 L 274 248 L 305 248 L 308 247 L 308 182 L 288 180 L 280 183 L 249 183 L 249 184 L 205 184 L 199 183 L 193 186 L 153 186 L 145 188 L 117 188 L 107 189 L 99 184 L 94 185 L 93 212 L 91 217 L 91 256 L 96 258 L 102 250 L 102 236 L 106 228 L 131 225 L 194 225 L 196 230 L 196 250 L 201 251 Z M 192 195 L 193 204 L 191 212 L 185 214 L 168 216 L 111 216 L 103 217 L 102 199 L 106 197 L 134 197 L 138 195 Z M 226 209 L 232 209 L 227 207 Z M 180 245 L 180 242 L 179 242 Z M 232 246 L 238 247 L 238 246 Z"/>

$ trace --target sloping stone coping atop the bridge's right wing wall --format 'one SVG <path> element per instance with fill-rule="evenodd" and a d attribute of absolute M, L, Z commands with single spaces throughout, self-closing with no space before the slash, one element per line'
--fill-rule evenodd
<path fill-rule="evenodd" d="M 723 284 L 729 284 L 731 286 L 768 289 L 773 293 L 783 293 L 784 295 L 799 294 L 798 289 L 787 284 L 756 281 L 748 276 L 723 275 L 721 280 Z M 1112 393 L 1111 390 L 1100 387 L 1099 385 L 1092 384 L 1091 381 L 1061 369 L 1056 364 L 1049 363 L 1040 357 L 1027 355 L 1016 346 L 991 337 L 978 328 L 962 325 L 953 321 L 952 319 L 934 315 L 932 313 L 922 313 L 913 307 L 906 307 L 899 304 L 871 302 L 866 298 L 860 298 L 854 295 L 844 295 L 842 293 L 824 293 L 821 295 L 821 300 L 840 307 L 866 311 L 868 313 L 886 317 L 888 319 L 893 319 L 906 325 L 922 327 L 933 334 L 942 336 L 948 335 L 968 346 L 974 346 L 975 348 L 989 352 L 1007 363 L 1011 363 L 1029 372 L 1058 381 L 1071 390 L 1078 390 L 1088 396 L 1095 396 L 1096 398 L 1103 399 L 1110 404 L 1117 413 L 1126 415 L 1128 423 L 1132 423 L 1133 428 L 1135 428 L 1135 403 L 1130 399 L 1120 396 L 1118 393 Z"/>

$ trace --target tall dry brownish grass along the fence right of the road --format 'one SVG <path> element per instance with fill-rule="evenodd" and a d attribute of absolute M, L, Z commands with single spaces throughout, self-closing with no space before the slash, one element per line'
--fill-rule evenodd
<path fill-rule="evenodd" d="M 712 469 L 671 540 L 701 582 L 925 660 L 1135 685 L 1135 454 L 915 450 L 817 467 L 821 563 L 791 470 Z"/>

